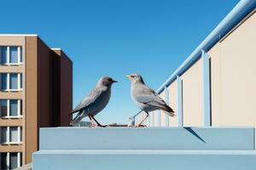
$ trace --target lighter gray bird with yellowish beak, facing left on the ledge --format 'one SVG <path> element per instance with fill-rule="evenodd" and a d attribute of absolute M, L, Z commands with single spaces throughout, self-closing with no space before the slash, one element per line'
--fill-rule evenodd
<path fill-rule="evenodd" d="M 175 116 L 172 108 L 166 105 L 166 102 L 163 99 L 160 99 L 154 90 L 145 85 L 142 76 L 131 74 L 126 77 L 131 80 L 131 98 L 135 101 L 136 105 L 147 114 L 142 122 L 137 124 L 137 127 L 140 127 L 148 118 L 149 111 L 162 110 L 169 116 Z"/>

